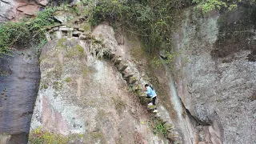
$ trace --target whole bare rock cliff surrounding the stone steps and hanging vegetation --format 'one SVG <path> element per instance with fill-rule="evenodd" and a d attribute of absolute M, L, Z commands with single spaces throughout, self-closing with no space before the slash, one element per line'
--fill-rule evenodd
<path fill-rule="evenodd" d="M 0 1 L 0 6 L 5 7 L 0 10 L 0 22 L 15 20 L 17 14 L 33 15 L 38 5 L 43 5 L 10 3 Z M 1 60 L 0 133 L 12 134 L 18 142 L 26 142 L 30 125 L 32 137 L 42 136 L 42 131 L 74 135 L 74 143 L 164 143 L 166 140 L 150 130 L 146 106 L 128 89 L 132 82 L 137 82 L 136 86 L 151 82 L 158 92 L 158 111 L 178 131 L 180 137 L 176 140 L 255 142 L 254 14 L 254 10 L 245 7 L 208 15 L 185 10 L 173 38 L 175 50 L 181 52 L 173 71 L 178 94 L 170 70 L 152 64 L 152 55 L 143 52 L 136 38 L 130 41 L 106 24 L 92 31 L 84 23 L 76 28 L 56 26 L 46 33 L 50 42 L 42 48 L 40 82 L 37 58 L 27 58 L 30 50 L 16 59 L 10 58 L 9 62 Z M 86 37 L 79 38 L 82 33 Z M 98 40 L 92 39 L 92 35 Z M 125 61 L 101 59 L 98 46 L 103 46 L 102 53 L 105 48 L 113 50 Z M 117 66 L 117 62 L 121 64 Z M 33 67 L 26 71 L 26 66 Z M 195 121 L 186 113 L 178 96 Z M 22 100 L 18 101 L 19 98 Z M 10 143 L 15 143 L 8 134 L 0 135 L 0 142 L 10 138 Z M 176 134 L 168 138 L 175 138 Z"/>

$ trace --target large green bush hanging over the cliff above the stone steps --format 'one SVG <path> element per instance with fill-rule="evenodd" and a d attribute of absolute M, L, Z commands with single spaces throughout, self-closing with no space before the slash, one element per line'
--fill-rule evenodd
<path fill-rule="evenodd" d="M 132 30 L 132 34 L 142 38 L 148 51 L 170 49 L 170 33 L 182 6 L 181 0 L 108 0 L 94 8 L 90 22 L 95 26 L 109 21 L 113 26 L 122 25 L 126 31 Z"/>

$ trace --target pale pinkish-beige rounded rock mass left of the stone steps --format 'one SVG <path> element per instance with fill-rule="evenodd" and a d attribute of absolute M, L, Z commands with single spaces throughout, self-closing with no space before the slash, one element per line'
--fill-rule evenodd
<path fill-rule="evenodd" d="M 70 38 L 61 35 L 60 39 L 50 34 L 50 42 L 42 49 L 41 83 L 31 130 L 41 126 L 56 134 L 83 134 L 80 143 L 165 142 L 150 131 L 146 109 L 127 89 L 124 79 L 133 76 L 129 71 L 134 68 L 122 66 L 118 58 L 110 62 L 95 58 L 100 57 L 95 52 L 101 41 L 85 34 L 78 38 L 73 32 Z M 93 34 L 101 36 L 108 49 L 117 48 L 110 26 L 98 26 Z M 122 75 L 118 70 L 126 71 Z"/>

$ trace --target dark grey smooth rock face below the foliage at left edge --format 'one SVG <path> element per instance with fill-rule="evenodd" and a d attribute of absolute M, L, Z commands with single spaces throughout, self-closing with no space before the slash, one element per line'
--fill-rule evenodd
<path fill-rule="evenodd" d="M 27 142 L 39 81 L 38 58 L 30 50 L 0 59 L 0 143 Z"/>

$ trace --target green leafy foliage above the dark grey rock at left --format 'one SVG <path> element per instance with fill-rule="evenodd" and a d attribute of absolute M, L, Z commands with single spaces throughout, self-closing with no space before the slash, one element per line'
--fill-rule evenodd
<path fill-rule="evenodd" d="M 67 6 L 46 7 L 35 18 L 23 18 L 20 22 L 5 22 L 0 25 L 0 58 L 10 54 L 10 47 L 36 43 L 43 46 L 46 43 L 44 32 L 46 26 L 54 25 L 53 14 L 56 10 L 70 10 Z"/>

